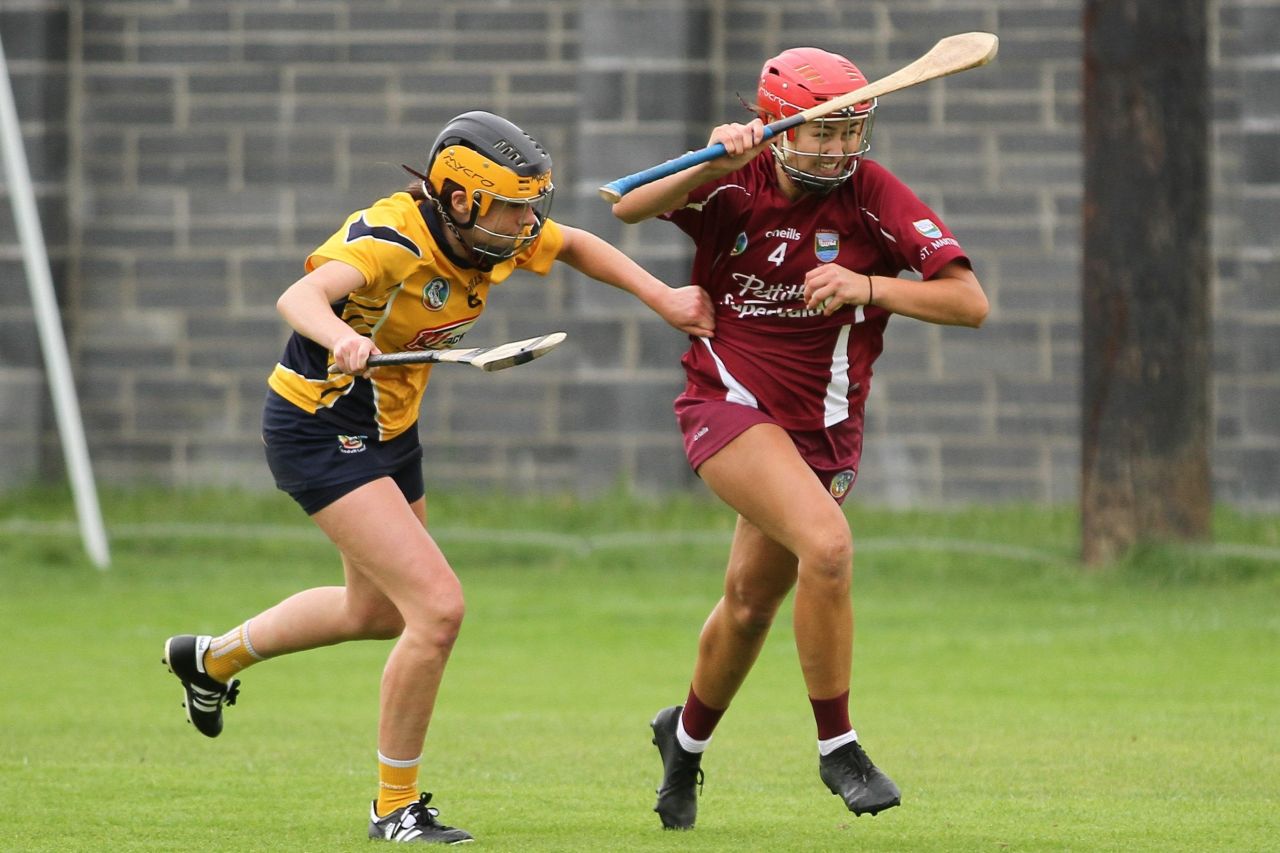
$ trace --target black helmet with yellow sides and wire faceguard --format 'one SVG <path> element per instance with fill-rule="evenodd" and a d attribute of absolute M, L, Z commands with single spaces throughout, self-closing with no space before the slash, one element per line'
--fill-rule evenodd
<path fill-rule="evenodd" d="M 444 126 L 431 145 L 426 183 L 449 222 L 472 232 L 465 242 L 489 264 L 538 238 L 556 192 L 547 150 L 507 119 L 484 110 L 463 113 Z M 451 204 L 458 190 L 467 197 L 461 220 L 452 215 Z M 488 223 L 477 224 L 481 218 Z"/>

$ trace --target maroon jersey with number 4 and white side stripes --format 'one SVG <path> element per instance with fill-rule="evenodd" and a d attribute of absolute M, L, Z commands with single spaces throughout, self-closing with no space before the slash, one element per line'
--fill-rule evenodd
<path fill-rule="evenodd" d="M 937 214 L 867 159 L 829 195 L 791 201 L 765 150 L 663 218 L 694 238 L 692 283 L 716 305 L 716 338 L 694 338 L 681 360 L 686 396 L 754 406 L 786 429 L 861 421 L 890 318 L 876 306 L 844 306 L 829 318 L 808 310 L 805 273 L 835 263 L 929 278 L 965 257 Z"/>

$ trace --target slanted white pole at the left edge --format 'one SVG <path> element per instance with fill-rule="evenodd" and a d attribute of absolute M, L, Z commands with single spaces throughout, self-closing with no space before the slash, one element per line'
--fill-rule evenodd
<path fill-rule="evenodd" d="M 22 147 L 22 129 L 18 126 L 18 108 L 14 104 L 13 85 L 9 81 L 9 63 L 0 44 L 0 159 L 4 160 L 13 218 L 22 241 L 22 259 L 31 289 L 31 305 L 40 333 L 40 350 L 47 371 L 46 383 L 54 398 L 58 434 L 72 482 L 76 514 L 79 517 L 84 551 L 99 569 L 111 564 L 102 526 L 102 511 L 97 502 L 97 487 L 90 465 L 88 446 L 84 442 L 84 424 L 72 378 L 67 339 L 63 336 L 58 300 L 54 296 L 54 277 L 49 269 L 49 254 L 40 228 L 36 193 L 31 186 L 27 152 Z"/>

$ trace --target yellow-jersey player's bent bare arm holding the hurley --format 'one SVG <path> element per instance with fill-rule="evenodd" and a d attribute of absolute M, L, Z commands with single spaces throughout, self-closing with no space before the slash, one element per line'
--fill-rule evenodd
<path fill-rule="evenodd" d="M 333 304 L 365 286 L 364 274 L 349 264 L 332 260 L 311 270 L 280 295 L 275 307 L 285 321 L 333 352 L 342 373 L 360 374 L 369 356 L 380 351 L 333 313 Z"/>

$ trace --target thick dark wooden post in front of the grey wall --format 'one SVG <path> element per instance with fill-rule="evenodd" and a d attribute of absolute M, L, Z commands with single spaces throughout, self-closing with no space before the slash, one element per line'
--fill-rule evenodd
<path fill-rule="evenodd" d="M 1082 556 L 1206 539 L 1204 0 L 1085 0 Z"/>

